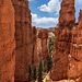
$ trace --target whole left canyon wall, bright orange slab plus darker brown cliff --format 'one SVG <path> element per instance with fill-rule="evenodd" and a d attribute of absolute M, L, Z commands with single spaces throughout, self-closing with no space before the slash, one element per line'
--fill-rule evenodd
<path fill-rule="evenodd" d="M 26 82 L 28 63 L 38 60 L 28 1 L 0 0 L 0 82 Z"/>

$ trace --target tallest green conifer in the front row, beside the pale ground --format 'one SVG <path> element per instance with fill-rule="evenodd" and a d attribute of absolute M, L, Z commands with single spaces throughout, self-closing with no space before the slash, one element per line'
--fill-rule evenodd
<path fill-rule="evenodd" d="M 44 77 L 44 65 L 43 65 L 43 61 L 39 60 L 39 65 L 38 65 L 38 82 L 43 82 L 43 77 Z"/>

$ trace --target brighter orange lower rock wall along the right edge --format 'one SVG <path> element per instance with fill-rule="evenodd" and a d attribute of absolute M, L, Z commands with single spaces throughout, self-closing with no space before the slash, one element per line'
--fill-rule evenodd
<path fill-rule="evenodd" d="M 69 55 L 68 77 L 77 79 L 82 73 L 82 21 L 71 30 L 72 40 Z"/>

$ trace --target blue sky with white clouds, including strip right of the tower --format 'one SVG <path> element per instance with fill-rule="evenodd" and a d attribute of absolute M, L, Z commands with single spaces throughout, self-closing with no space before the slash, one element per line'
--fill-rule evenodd
<path fill-rule="evenodd" d="M 28 0 L 32 14 L 32 25 L 36 27 L 55 27 L 58 23 L 60 3 L 62 0 Z M 75 22 L 78 21 L 82 0 L 75 0 Z"/>

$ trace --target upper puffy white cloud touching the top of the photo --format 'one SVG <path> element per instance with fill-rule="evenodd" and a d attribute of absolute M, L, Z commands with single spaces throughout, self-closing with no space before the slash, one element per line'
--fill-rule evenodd
<path fill-rule="evenodd" d="M 60 2 L 59 0 L 50 0 L 47 4 L 38 7 L 38 9 L 43 12 L 56 12 L 57 14 L 60 10 Z"/>

